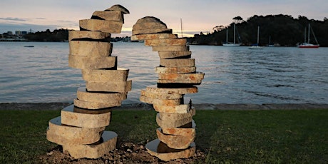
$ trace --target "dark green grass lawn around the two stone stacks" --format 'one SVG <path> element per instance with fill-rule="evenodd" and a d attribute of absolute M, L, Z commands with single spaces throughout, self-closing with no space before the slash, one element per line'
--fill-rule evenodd
<path fill-rule="evenodd" d="M 155 111 L 113 111 L 107 130 L 123 141 L 157 138 Z M 46 128 L 60 111 L 0 111 L 0 163 L 38 163 L 56 146 Z M 195 163 L 328 163 L 328 109 L 206 111 L 194 116 L 195 143 L 205 161 Z"/>

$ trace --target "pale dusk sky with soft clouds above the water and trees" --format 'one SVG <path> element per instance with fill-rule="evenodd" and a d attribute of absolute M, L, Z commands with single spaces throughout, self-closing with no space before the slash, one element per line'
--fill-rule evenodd
<path fill-rule="evenodd" d="M 125 14 L 121 36 L 130 36 L 133 24 L 144 16 L 155 16 L 174 34 L 211 32 L 227 26 L 235 16 L 245 21 L 254 15 L 299 15 L 323 21 L 328 17 L 327 0 L 1 0 L 0 34 L 7 31 L 78 30 L 78 20 L 90 19 L 94 11 L 121 4 Z"/>

